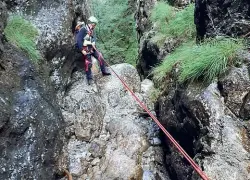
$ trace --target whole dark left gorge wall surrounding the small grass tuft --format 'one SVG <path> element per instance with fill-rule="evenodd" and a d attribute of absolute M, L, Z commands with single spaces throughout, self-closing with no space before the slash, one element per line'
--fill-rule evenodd
<path fill-rule="evenodd" d="M 62 151 L 67 143 L 65 122 L 54 88 L 65 91 L 74 68 L 70 33 L 75 4 L 0 1 L 0 179 L 56 179 L 67 166 Z M 38 47 L 47 61 L 34 65 L 3 42 L 6 8 L 38 28 Z"/>

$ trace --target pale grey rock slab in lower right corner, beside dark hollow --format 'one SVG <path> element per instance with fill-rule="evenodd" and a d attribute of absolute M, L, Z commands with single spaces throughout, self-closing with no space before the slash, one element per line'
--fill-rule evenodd
<path fill-rule="evenodd" d="M 216 95 L 216 84 L 202 94 L 210 113 L 210 147 L 214 153 L 203 160 L 205 172 L 211 179 L 249 179 L 249 153 L 244 148 L 241 133 L 244 127 L 238 118 L 227 112 L 223 99 Z"/>

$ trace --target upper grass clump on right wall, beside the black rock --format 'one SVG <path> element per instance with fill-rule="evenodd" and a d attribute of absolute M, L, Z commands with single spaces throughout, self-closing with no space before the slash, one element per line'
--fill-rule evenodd
<path fill-rule="evenodd" d="M 195 36 L 194 4 L 177 11 L 167 3 L 159 2 L 151 12 L 151 21 L 156 23 L 157 31 L 152 40 L 159 46 L 166 38 L 177 38 L 184 42 Z"/>

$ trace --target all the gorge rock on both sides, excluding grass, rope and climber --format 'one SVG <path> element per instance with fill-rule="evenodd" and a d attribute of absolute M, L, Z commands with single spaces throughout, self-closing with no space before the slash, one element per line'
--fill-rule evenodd
<path fill-rule="evenodd" d="M 71 27 L 91 14 L 89 3 L 0 1 L 0 178 L 64 179 L 68 169 L 74 179 L 199 179 L 165 136 L 159 139 L 159 129 L 114 75 L 96 75 L 94 85 L 86 85 Z M 137 67 L 147 77 L 178 41 L 152 43 L 149 16 L 156 1 L 131 3 L 137 5 Z M 248 1 L 220 3 L 196 1 L 199 39 L 248 33 Z M 44 59 L 36 65 L 2 34 L 12 13 L 39 30 Z M 249 55 L 242 58 L 244 64 L 205 87 L 172 79 L 156 104 L 160 121 L 211 179 L 250 179 Z M 128 64 L 112 67 L 154 110 L 148 98 L 153 83 L 141 83 Z"/>

